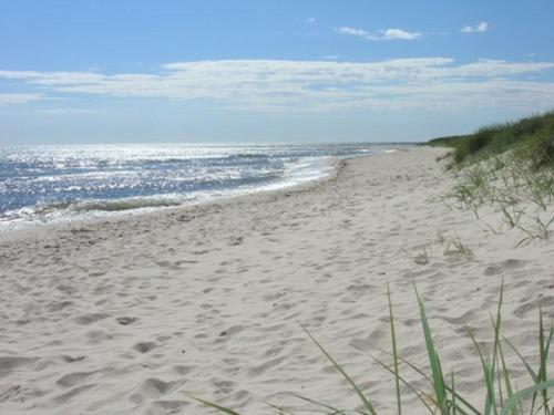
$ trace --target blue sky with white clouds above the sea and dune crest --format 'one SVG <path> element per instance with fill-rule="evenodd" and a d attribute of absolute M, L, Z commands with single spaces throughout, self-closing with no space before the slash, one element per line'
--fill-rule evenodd
<path fill-rule="evenodd" d="M 554 108 L 552 0 L 0 0 L 0 145 L 403 142 Z"/>

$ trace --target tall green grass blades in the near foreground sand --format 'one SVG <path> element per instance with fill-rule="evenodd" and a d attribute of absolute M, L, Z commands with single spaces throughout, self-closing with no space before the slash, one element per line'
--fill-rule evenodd
<path fill-rule="evenodd" d="M 390 319 L 390 334 L 391 334 L 391 353 L 392 362 L 383 362 L 382 360 L 370 355 L 371 359 L 378 363 L 379 366 L 384 369 L 394 378 L 394 391 L 391 395 L 394 396 L 394 407 L 398 415 L 402 414 L 402 390 L 400 385 L 407 386 L 410 393 L 413 393 L 424 408 L 430 414 L 441 415 L 455 415 L 455 414 L 474 414 L 474 415 L 523 415 L 523 414 L 554 414 L 553 396 L 548 393 L 548 388 L 554 387 L 554 378 L 547 376 L 547 362 L 550 355 L 550 346 L 554 334 L 554 329 L 551 324 L 546 330 L 544 323 L 544 314 L 542 308 L 538 309 L 538 367 L 534 370 L 529 359 L 524 357 L 522 353 L 502 335 L 502 303 L 504 295 L 504 284 L 501 284 L 497 305 L 494 314 L 491 314 L 491 329 L 492 341 L 486 345 L 480 343 L 471 330 L 468 329 L 468 335 L 471 338 L 474 345 L 474 356 L 480 362 L 482 369 L 482 383 L 481 391 L 483 395 L 482 405 L 478 407 L 470 403 L 468 396 L 455 387 L 455 373 L 453 370 L 450 372 L 444 371 L 443 367 L 452 366 L 445 365 L 439 355 L 431 323 L 427 315 L 424 301 L 417 287 L 414 286 L 416 300 L 419 307 L 419 320 L 422 329 L 422 342 L 427 351 L 429 361 L 428 367 L 418 366 L 409 360 L 404 359 L 399 353 L 399 340 L 397 339 L 394 313 L 392 305 L 392 297 L 389 286 L 387 286 L 388 310 Z M 350 384 L 352 393 L 358 397 L 360 407 L 345 409 L 339 408 L 339 405 L 329 405 L 301 395 L 295 397 L 316 405 L 317 409 L 281 407 L 275 404 L 268 404 L 268 408 L 276 411 L 276 414 L 300 414 L 308 412 L 321 414 L 366 414 L 376 415 L 378 409 L 370 396 L 367 396 L 362 388 L 342 367 L 342 365 L 332 357 L 331 353 L 319 343 L 316 336 L 302 324 L 300 324 L 307 336 L 311 339 L 314 344 L 319 351 L 332 363 L 337 372 Z M 511 370 L 506 365 L 505 346 L 509 346 L 513 353 L 521 360 L 521 364 L 526 370 L 531 383 L 529 386 L 515 391 L 514 381 L 511 376 Z M 428 390 L 421 391 L 419 387 L 406 380 L 403 372 L 413 371 L 419 374 L 427 383 Z M 206 405 L 217 413 L 225 414 L 239 414 L 238 412 L 220 406 L 216 403 L 196 397 L 187 394 L 192 400 Z"/>

